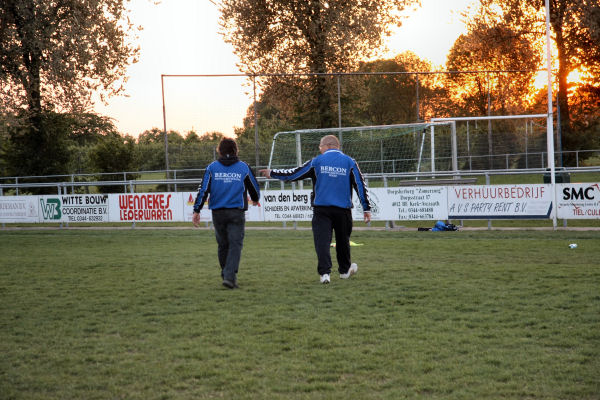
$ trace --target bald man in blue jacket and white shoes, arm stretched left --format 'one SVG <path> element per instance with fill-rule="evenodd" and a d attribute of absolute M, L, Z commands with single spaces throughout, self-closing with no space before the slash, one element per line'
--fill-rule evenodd
<path fill-rule="evenodd" d="M 332 230 L 335 232 L 335 251 L 340 278 L 347 279 L 358 271 L 350 259 L 352 233 L 352 189 L 358 194 L 364 211 L 364 221 L 371 220 L 371 206 L 367 186 L 354 159 L 340 151 L 340 142 L 334 135 L 321 138 L 321 155 L 293 169 L 263 169 L 267 178 L 283 181 L 312 179 L 312 229 L 317 253 L 317 272 L 321 283 L 330 282 Z"/>

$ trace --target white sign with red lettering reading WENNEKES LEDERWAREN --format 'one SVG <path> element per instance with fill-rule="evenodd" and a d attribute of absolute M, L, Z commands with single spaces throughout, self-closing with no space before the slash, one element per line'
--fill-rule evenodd
<path fill-rule="evenodd" d="M 111 222 L 183 221 L 182 193 L 131 193 L 109 195 Z"/>

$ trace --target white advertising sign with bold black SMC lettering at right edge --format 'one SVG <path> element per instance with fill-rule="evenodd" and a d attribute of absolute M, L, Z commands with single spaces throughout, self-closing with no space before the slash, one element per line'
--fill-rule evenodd
<path fill-rule="evenodd" d="M 599 183 L 563 183 L 556 185 L 557 218 L 600 219 Z"/>

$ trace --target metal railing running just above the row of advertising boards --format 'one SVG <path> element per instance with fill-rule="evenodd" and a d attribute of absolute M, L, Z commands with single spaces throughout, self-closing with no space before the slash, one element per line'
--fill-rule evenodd
<path fill-rule="evenodd" d="M 477 162 L 485 158 L 491 159 L 491 162 Z M 574 165 L 565 166 L 563 158 L 573 160 Z M 517 162 L 518 160 L 518 162 Z M 582 165 L 581 160 L 586 160 L 587 164 Z M 373 161 L 362 161 L 360 163 L 363 172 L 369 171 L 372 178 L 375 177 L 393 177 L 402 176 L 406 179 L 427 178 L 428 176 L 460 176 L 460 175 L 511 175 L 521 173 L 546 173 L 547 153 L 507 153 L 495 154 L 492 156 L 470 155 L 458 157 L 458 170 L 449 171 L 449 168 L 442 167 L 450 165 L 450 159 L 444 160 L 444 157 L 436 158 L 436 171 L 428 170 L 429 159 L 421 160 L 424 165 L 418 172 L 403 171 L 402 166 L 415 164 L 416 160 L 406 159 L 382 159 Z M 444 163 L 444 161 L 446 161 Z M 492 164 L 494 169 L 477 169 L 474 165 Z M 597 164 L 597 165 L 593 165 Z M 555 165 L 558 169 L 567 172 L 598 172 L 600 171 L 600 150 L 577 150 L 563 151 L 555 154 Z M 517 166 L 517 167 L 515 167 Z M 257 169 L 267 166 L 258 166 Z M 276 167 L 276 166 L 275 166 Z M 443 169 L 440 171 L 439 169 Z M 46 191 L 48 188 L 68 188 L 69 191 L 76 190 L 88 192 L 90 188 L 105 188 L 108 192 L 130 192 L 131 187 L 152 186 L 151 190 L 196 190 L 201 182 L 205 169 L 171 169 L 171 170 L 151 170 L 151 171 L 123 171 L 111 173 L 82 173 L 82 174 L 63 174 L 63 175 L 39 175 L 39 176 L 7 176 L 0 177 L 0 195 L 10 193 L 15 195 L 27 193 L 28 188 L 35 188 L 38 192 Z M 523 172 L 525 171 L 525 172 Z M 118 188 L 118 187 L 121 188 Z M 51 189 L 54 192 L 54 189 Z M 58 189 L 57 189 L 58 190 Z M 61 189 L 62 190 L 62 189 Z"/>

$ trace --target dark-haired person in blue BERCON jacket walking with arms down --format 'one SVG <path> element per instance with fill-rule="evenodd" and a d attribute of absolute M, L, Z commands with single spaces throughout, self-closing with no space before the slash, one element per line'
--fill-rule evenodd
<path fill-rule="evenodd" d="M 252 204 L 258 205 L 260 188 L 248 164 L 237 157 L 235 140 L 223 138 L 217 152 L 219 159 L 213 161 L 204 173 L 194 203 L 192 222 L 196 227 L 200 224 L 200 210 L 210 193 L 208 207 L 212 210 L 221 278 L 223 286 L 234 289 L 238 287 L 237 273 L 244 244 L 248 194 Z"/>

